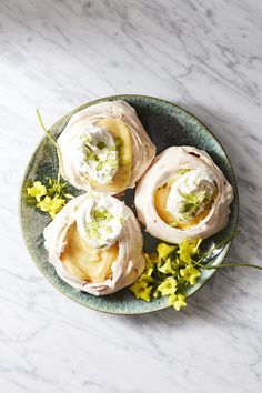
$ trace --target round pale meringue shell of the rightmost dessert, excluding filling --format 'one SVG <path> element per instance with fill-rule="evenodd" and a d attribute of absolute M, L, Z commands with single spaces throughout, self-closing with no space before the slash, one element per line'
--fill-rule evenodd
<path fill-rule="evenodd" d="M 177 229 L 162 221 L 154 208 L 155 190 L 181 169 L 203 168 L 210 171 L 218 187 L 218 195 L 209 214 L 194 226 Z M 135 208 L 139 221 L 154 238 L 169 243 L 182 243 L 185 239 L 206 239 L 223 229 L 229 220 L 233 189 L 211 157 L 192 147 L 172 147 L 158 155 L 152 167 L 140 180 L 135 190 Z"/>

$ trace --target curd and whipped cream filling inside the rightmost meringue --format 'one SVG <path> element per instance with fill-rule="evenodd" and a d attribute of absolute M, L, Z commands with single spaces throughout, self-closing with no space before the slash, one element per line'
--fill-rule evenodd
<path fill-rule="evenodd" d="M 155 210 L 164 222 L 178 229 L 196 225 L 210 212 L 218 190 L 203 169 L 183 169 L 154 193 Z"/>

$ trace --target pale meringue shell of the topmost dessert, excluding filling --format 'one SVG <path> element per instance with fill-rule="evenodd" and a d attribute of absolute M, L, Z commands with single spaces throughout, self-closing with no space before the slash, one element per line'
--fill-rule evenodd
<path fill-rule="evenodd" d="M 155 147 L 138 119 L 135 110 L 125 101 L 103 101 L 73 114 L 57 140 L 63 158 L 60 163 L 61 174 L 80 190 L 95 190 L 95 187 L 90 184 L 87 173 L 79 173 L 75 170 L 71 160 L 71 142 L 78 133 L 81 133 L 83 122 L 87 125 L 88 122 L 92 123 L 101 119 L 121 120 L 130 130 L 132 139 L 132 172 L 130 181 L 124 189 L 134 188 L 135 182 L 143 175 L 154 159 Z M 99 191 L 103 192 L 101 189 Z M 123 189 L 118 190 L 118 192 L 107 193 L 115 194 L 121 191 Z"/>

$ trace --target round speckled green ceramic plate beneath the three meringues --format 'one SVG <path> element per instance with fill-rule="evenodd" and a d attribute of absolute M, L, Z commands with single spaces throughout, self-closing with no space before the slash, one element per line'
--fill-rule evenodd
<path fill-rule="evenodd" d="M 234 201 L 231 205 L 231 214 L 228 226 L 216 235 L 205 242 L 218 242 L 235 230 L 238 221 L 238 188 L 232 165 L 223 148 L 206 127 L 195 119 L 192 114 L 171 102 L 163 101 L 145 95 L 114 95 L 95 100 L 77 108 L 66 114 L 51 129 L 53 137 L 58 137 L 64 129 L 70 118 L 81 109 L 93 105 L 105 100 L 124 100 L 137 111 L 144 129 L 149 133 L 153 143 L 158 148 L 158 153 L 171 145 L 189 144 L 205 150 L 220 167 L 229 182 L 234 188 Z M 41 130 L 39 131 L 41 132 Z M 168 306 L 167 299 L 155 299 L 150 303 L 137 300 L 129 290 L 124 289 L 115 294 L 107 296 L 93 296 L 79 292 L 63 282 L 56 273 L 53 266 L 48 262 L 48 253 L 43 246 L 43 229 L 49 223 L 50 218 L 29 205 L 24 190 L 31 180 L 44 180 L 47 177 L 56 178 L 58 171 L 58 159 L 56 149 L 47 139 L 42 139 L 33 153 L 21 185 L 20 193 L 20 222 L 27 248 L 32 260 L 48 279 L 60 292 L 73 301 L 90 309 L 115 313 L 115 314 L 140 314 L 161 310 Z M 79 192 L 72 188 L 74 194 Z M 133 191 L 125 192 L 125 203 L 133 208 Z M 157 244 L 157 239 L 144 233 L 144 251 L 152 251 Z M 212 264 L 220 264 L 225 258 L 230 244 L 221 249 L 219 254 L 212 260 Z M 214 273 L 214 270 L 204 270 L 195 286 L 192 286 L 188 295 L 193 294 L 200 289 Z"/>

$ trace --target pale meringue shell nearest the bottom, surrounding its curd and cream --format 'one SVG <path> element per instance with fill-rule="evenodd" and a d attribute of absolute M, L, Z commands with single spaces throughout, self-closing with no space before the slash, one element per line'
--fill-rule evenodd
<path fill-rule="evenodd" d="M 84 203 L 87 195 L 88 193 L 84 193 L 71 200 L 44 229 L 44 246 L 49 252 L 49 262 L 63 281 L 93 295 L 105 295 L 132 284 L 142 274 L 145 263 L 142 254 L 143 238 L 133 212 L 124 205 L 125 219 L 117 240 L 119 254 L 111 265 L 111 276 L 102 282 L 87 282 L 73 276 L 63 265 L 61 254 L 67 245 L 67 233 L 75 223 L 78 209 Z"/>

